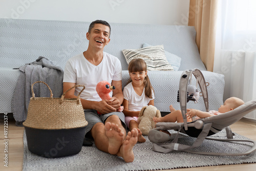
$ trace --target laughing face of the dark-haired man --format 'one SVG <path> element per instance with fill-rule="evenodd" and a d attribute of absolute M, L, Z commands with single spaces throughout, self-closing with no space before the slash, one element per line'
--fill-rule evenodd
<path fill-rule="evenodd" d="M 87 33 L 89 45 L 94 48 L 103 49 L 110 42 L 110 28 L 102 24 L 95 24 L 91 33 Z"/>

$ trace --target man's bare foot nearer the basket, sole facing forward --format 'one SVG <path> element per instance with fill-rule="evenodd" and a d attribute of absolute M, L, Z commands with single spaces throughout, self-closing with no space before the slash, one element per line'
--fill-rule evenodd
<path fill-rule="evenodd" d="M 110 122 L 105 123 L 105 132 L 106 137 L 109 138 L 108 151 L 110 154 L 115 155 L 122 145 L 124 134 L 117 124 Z"/>

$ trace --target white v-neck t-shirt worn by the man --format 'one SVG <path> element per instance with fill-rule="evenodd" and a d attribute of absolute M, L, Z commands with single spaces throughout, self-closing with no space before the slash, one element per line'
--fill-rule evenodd
<path fill-rule="evenodd" d="M 112 82 L 122 80 L 122 67 L 120 60 L 108 53 L 103 52 L 103 59 L 99 65 L 95 66 L 89 62 L 83 53 L 78 54 L 68 60 L 64 70 L 63 82 L 73 82 L 82 84 L 86 87 L 83 90 L 80 98 L 101 101 L 96 92 L 96 85 L 100 81 Z M 75 95 L 82 90 L 82 87 L 77 87 Z M 110 96 L 112 97 L 112 91 Z"/>

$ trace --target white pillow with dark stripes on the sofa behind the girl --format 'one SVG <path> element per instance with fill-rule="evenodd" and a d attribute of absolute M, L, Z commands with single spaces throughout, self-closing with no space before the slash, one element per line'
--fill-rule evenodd
<path fill-rule="evenodd" d="M 128 64 L 135 58 L 142 58 L 146 62 L 148 71 L 174 70 L 165 57 L 163 45 L 141 49 L 124 49 L 122 52 Z"/>

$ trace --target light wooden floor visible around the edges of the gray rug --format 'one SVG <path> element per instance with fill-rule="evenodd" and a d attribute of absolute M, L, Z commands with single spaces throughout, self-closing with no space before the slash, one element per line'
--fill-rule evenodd
<path fill-rule="evenodd" d="M 256 140 L 256 122 L 243 118 L 240 121 L 230 126 L 232 131 L 243 135 L 252 140 Z M 23 133 L 24 127 L 15 126 L 13 119 L 8 120 L 8 167 L 4 166 L 5 144 L 4 144 L 4 119 L 0 119 L 0 170 L 15 170 L 20 171 L 23 168 Z M 255 164 L 235 164 L 221 165 L 196 168 L 178 168 L 177 171 L 183 170 L 256 170 Z"/>

